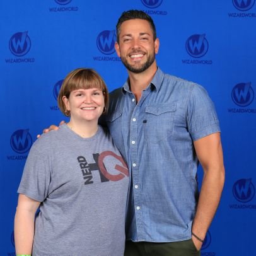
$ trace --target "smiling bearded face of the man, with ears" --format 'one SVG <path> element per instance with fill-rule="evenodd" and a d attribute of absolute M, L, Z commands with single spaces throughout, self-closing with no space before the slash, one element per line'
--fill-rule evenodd
<path fill-rule="evenodd" d="M 124 66 L 133 73 L 141 73 L 150 67 L 158 53 L 159 40 L 154 40 L 151 26 L 146 20 L 127 20 L 120 26 L 117 55 Z"/>

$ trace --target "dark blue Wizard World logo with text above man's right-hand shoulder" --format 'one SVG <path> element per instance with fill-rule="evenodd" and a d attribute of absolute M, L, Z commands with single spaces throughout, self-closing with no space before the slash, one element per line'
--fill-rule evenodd
<path fill-rule="evenodd" d="M 206 34 L 195 34 L 187 38 L 185 43 L 187 54 L 195 59 L 183 59 L 183 64 L 212 64 L 211 60 L 202 60 L 209 49 L 209 43 L 206 39 Z"/>

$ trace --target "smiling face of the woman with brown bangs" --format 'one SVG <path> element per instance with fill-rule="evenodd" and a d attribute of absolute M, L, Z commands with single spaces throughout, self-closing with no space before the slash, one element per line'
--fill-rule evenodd
<path fill-rule="evenodd" d="M 69 98 L 63 96 L 72 120 L 96 121 L 102 115 L 105 106 L 104 95 L 98 88 L 78 89 L 71 91 Z"/>

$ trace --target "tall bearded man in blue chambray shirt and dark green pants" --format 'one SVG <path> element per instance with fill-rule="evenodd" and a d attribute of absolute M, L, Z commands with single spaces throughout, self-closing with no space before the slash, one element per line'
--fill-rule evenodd
<path fill-rule="evenodd" d="M 159 45 L 150 16 L 122 13 L 115 49 L 129 78 L 106 120 L 131 173 L 125 255 L 200 255 L 224 184 L 219 122 L 201 86 L 156 65 Z"/>

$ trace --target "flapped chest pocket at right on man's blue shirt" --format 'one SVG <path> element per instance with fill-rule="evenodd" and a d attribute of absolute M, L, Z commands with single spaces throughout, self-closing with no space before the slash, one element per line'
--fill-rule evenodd
<path fill-rule="evenodd" d="M 176 104 L 158 104 L 146 107 L 144 137 L 148 143 L 165 141 L 171 136 L 174 127 Z"/>

